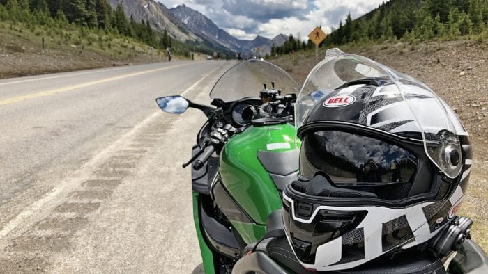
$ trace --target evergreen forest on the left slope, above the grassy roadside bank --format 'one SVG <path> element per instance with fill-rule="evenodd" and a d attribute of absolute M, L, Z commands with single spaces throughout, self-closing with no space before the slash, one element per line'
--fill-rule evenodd
<path fill-rule="evenodd" d="M 167 30 L 159 33 L 144 19 L 136 22 L 125 15 L 121 4 L 112 8 L 107 0 L 0 0 L 0 20 L 21 23 L 32 30 L 36 26 L 56 31 L 75 28 L 84 35 L 98 33 L 100 39 L 103 36 L 136 40 L 160 51 L 171 47 L 174 54 L 185 56 L 190 56 L 190 51 L 212 52 L 174 40 Z M 76 40 L 73 42 L 77 44 Z"/>

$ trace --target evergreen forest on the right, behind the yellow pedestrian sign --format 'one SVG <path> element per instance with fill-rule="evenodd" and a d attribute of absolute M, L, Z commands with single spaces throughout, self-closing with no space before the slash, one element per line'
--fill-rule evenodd
<path fill-rule="evenodd" d="M 349 14 L 329 33 L 319 47 L 348 43 L 371 45 L 386 40 L 403 40 L 415 45 L 430 40 L 459 37 L 482 42 L 488 38 L 488 0 L 392 0 L 352 19 Z M 289 35 L 281 47 L 273 45 L 271 56 L 312 49 L 311 40 L 302 42 Z"/>

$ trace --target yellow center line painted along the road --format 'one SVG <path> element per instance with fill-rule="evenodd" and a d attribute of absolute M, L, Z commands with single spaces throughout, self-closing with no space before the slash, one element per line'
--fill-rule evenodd
<path fill-rule="evenodd" d="M 48 95 L 54 95 L 56 93 L 66 92 L 66 91 L 70 91 L 70 90 L 75 90 L 77 88 L 86 88 L 88 86 L 98 85 L 100 83 L 107 83 L 109 81 L 116 81 L 116 80 L 120 80 L 120 79 L 124 79 L 124 78 L 128 78 L 128 77 L 132 77 L 132 76 L 137 76 L 137 75 L 142 75 L 142 74 L 148 74 L 148 73 L 151 73 L 151 72 L 158 72 L 160 70 L 167 70 L 167 69 L 170 69 L 170 68 L 173 68 L 173 67 L 181 67 L 183 65 L 188 65 L 188 64 L 174 65 L 174 66 L 171 66 L 171 67 L 160 67 L 160 68 L 153 69 L 153 70 L 145 70 L 144 72 L 135 72 L 135 73 L 131 73 L 131 74 L 125 74 L 125 75 L 121 75 L 121 76 L 115 76 L 115 77 L 111 77 L 111 78 L 100 79 L 100 80 L 97 80 L 97 81 L 91 81 L 91 82 L 86 82 L 86 83 L 79 83 L 79 84 L 73 85 L 73 86 L 66 86 L 66 87 L 63 87 L 63 88 L 56 88 L 54 90 L 46 90 L 46 91 L 43 91 L 43 92 L 37 92 L 37 93 L 29 94 L 29 95 L 24 95 L 24 96 L 19 96 L 19 97 L 13 97 L 13 98 L 10 98 L 10 99 L 1 100 L 0 101 L 0 106 L 5 105 L 5 104 L 12 104 L 12 103 L 15 103 L 15 102 L 24 101 L 24 100 L 27 100 L 27 99 L 33 99 L 33 98 L 38 98 L 38 97 L 43 97 L 43 96 L 48 96 Z"/>

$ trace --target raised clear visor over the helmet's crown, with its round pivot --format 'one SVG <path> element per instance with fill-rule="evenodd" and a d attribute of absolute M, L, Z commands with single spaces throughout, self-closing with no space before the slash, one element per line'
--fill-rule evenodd
<path fill-rule="evenodd" d="M 447 177 L 462 169 L 457 115 L 424 83 L 363 56 L 329 49 L 307 76 L 295 106 L 296 128 L 309 122 L 362 124 L 422 140 Z M 298 137 L 297 137 L 298 138 Z"/>

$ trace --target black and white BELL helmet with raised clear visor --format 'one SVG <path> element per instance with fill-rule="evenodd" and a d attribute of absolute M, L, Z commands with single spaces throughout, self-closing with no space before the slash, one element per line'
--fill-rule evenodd
<path fill-rule="evenodd" d="M 353 268 L 425 243 L 455 217 L 471 171 L 468 134 L 424 83 L 329 50 L 296 102 L 300 175 L 283 193 L 305 268 Z"/>

